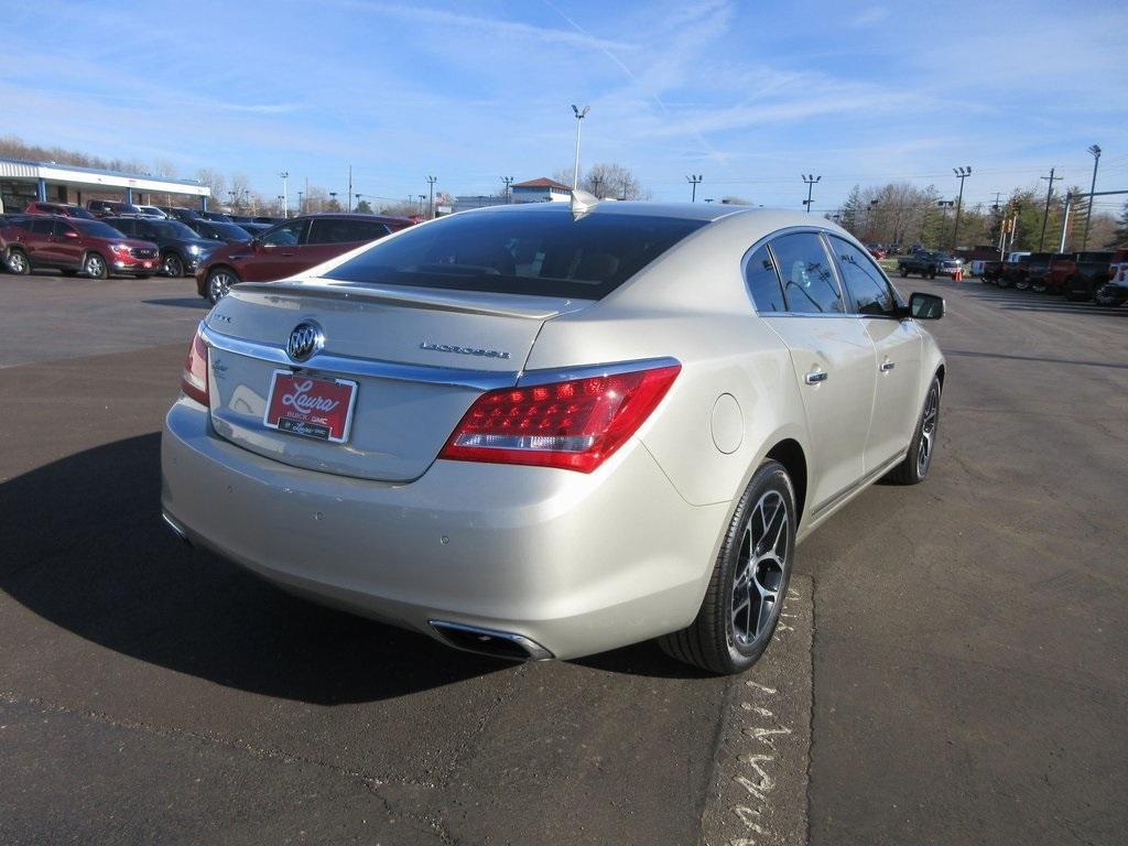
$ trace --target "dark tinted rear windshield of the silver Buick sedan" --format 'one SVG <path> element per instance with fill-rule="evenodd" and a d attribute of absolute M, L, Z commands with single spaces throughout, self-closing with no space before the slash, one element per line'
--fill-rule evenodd
<path fill-rule="evenodd" d="M 567 205 L 469 212 L 412 228 L 326 279 L 456 291 L 598 300 L 705 224 Z"/>

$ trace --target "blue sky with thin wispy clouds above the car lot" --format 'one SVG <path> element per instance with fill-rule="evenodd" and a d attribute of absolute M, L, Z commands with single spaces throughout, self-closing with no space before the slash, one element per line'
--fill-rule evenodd
<path fill-rule="evenodd" d="M 769 5 L 735 0 L 5 3 L 3 132 L 180 176 L 291 174 L 403 197 L 425 176 L 492 193 L 583 160 L 632 168 L 655 199 L 738 194 L 816 210 L 854 183 L 966 199 L 1051 166 L 1128 187 L 1128 6 Z"/>

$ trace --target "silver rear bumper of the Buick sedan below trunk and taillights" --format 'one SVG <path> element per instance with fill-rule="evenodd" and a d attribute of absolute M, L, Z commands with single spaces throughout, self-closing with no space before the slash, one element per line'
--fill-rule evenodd
<path fill-rule="evenodd" d="M 165 514 L 191 543 L 328 605 L 437 637 L 432 620 L 515 634 L 556 658 L 689 625 L 730 509 L 687 504 L 637 442 L 590 475 L 305 470 L 220 439 L 185 398 L 161 464 Z"/>

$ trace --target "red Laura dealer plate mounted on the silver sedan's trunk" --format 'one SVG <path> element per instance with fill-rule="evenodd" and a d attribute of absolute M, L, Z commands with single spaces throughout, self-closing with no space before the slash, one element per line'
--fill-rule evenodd
<path fill-rule="evenodd" d="M 275 370 L 263 423 L 303 438 L 344 443 L 355 404 L 356 382 Z"/>

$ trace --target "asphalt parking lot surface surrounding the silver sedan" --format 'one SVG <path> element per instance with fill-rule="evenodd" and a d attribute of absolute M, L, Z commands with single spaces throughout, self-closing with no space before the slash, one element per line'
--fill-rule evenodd
<path fill-rule="evenodd" d="M 1114 843 L 1128 309 L 941 291 L 941 451 L 799 549 L 746 677 L 511 666 L 176 543 L 192 280 L 0 275 L 0 841 Z"/>

